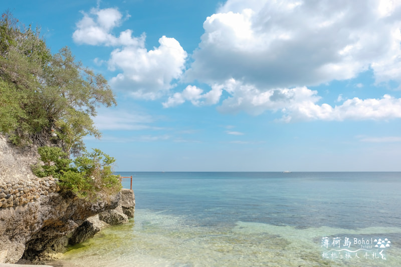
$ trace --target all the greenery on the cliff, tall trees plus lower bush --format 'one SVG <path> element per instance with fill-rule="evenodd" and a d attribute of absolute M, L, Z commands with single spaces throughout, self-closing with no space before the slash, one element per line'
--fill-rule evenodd
<path fill-rule="evenodd" d="M 86 152 L 83 137 L 100 137 L 92 117 L 116 101 L 106 79 L 76 61 L 68 47 L 52 54 L 39 28 L 25 27 L 10 13 L 0 18 L 0 133 L 15 145 L 35 144 L 39 177 L 53 176 L 62 191 L 95 200 L 121 189 L 114 159 Z M 77 156 L 70 159 L 70 154 Z"/>

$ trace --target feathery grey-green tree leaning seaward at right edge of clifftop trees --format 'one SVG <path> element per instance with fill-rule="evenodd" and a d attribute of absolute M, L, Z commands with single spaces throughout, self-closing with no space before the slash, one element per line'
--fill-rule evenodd
<path fill-rule="evenodd" d="M 100 137 L 91 116 L 96 115 L 99 104 L 116 105 L 113 92 L 103 76 L 82 67 L 68 48 L 53 57 L 44 79 L 47 117 L 56 127 L 63 149 L 77 154 L 83 146 L 82 137 Z"/>

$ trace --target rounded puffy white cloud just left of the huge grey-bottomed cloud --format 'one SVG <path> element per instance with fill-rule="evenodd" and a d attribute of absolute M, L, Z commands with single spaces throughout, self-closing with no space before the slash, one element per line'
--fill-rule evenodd
<path fill-rule="evenodd" d="M 110 84 L 145 99 L 156 99 L 173 87 L 171 81 L 181 76 L 187 54 L 174 38 L 163 36 L 159 44 L 150 51 L 141 46 L 114 50 L 109 69 L 122 73 L 112 78 Z"/>

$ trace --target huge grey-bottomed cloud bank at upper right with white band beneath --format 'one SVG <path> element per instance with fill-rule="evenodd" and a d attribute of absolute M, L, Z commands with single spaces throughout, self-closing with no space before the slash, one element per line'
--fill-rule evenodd
<path fill-rule="evenodd" d="M 401 2 L 228 0 L 204 23 L 205 33 L 186 81 L 211 85 L 186 97 L 175 93 L 170 107 L 190 101 L 199 105 L 207 94 L 219 111 L 259 115 L 280 112 L 282 120 L 386 120 L 400 118 L 401 100 L 344 100 L 319 104 L 307 86 L 355 78 L 373 71 L 376 83 L 401 82 Z M 356 87 L 361 88 L 362 84 Z M 218 90 L 216 90 L 218 89 Z"/>

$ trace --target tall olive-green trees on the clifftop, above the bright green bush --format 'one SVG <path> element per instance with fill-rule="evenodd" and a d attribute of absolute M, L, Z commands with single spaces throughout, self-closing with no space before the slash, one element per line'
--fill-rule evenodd
<path fill-rule="evenodd" d="M 96 107 L 116 105 L 106 79 L 77 62 L 65 47 L 51 54 L 40 30 L 10 13 L 0 18 L 0 132 L 16 144 L 53 140 L 67 154 L 84 150 L 82 138 L 100 137 Z M 54 132 L 53 132 L 53 131 Z"/>

